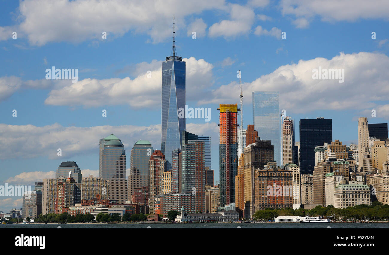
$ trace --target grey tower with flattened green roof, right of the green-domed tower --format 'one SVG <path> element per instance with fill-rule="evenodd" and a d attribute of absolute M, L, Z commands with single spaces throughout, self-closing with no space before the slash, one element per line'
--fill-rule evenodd
<path fill-rule="evenodd" d="M 128 199 L 136 188 L 149 186 L 149 160 L 153 152 L 151 142 L 138 140 L 131 149 L 130 176 L 128 176 Z"/>

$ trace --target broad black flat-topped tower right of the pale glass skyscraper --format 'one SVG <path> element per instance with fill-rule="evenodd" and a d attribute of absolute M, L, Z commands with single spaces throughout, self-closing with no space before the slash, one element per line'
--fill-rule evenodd
<path fill-rule="evenodd" d="M 300 120 L 300 172 L 312 174 L 315 147 L 332 141 L 332 120 L 324 118 Z"/>

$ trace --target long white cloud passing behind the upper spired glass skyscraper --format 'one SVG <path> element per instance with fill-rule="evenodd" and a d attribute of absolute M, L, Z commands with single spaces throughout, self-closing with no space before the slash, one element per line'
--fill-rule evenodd
<path fill-rule="evenodd" d="M 186 62 L 186 100 L 202 97 L 202 90 L 212 84 L 213 65 L 194 57 Z M 150 70 L 150 73 L 147 71 Z M 135 79 L 83 79 L 77 83 L 63 81 L 65 86 L 51 90 L 45 103 L 56 106 L 88 106 L 129 104 L 132 107 L 159 107 L 161 104 L 162 66 L 153 60 L 140 63 L 132 71 Z"/>

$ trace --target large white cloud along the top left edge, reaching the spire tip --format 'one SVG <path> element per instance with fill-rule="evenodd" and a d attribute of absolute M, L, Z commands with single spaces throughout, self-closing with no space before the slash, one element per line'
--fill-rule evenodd
<path fill-rule="evenodd" d="M 19 4 L 18 28 L 0 27 L 0 40 L 9 38 L 9 32 L 20 31 L 30 44 L 42 46 L 47 42 L 102 40 L 102 32 L 107 32 L 110 40 L 133 31 L 161 42 L 171 36 L 173 15 L 179 32 L 185 28 L 186 16 L 225 8 L 224 0 L 25 0 Z"/>

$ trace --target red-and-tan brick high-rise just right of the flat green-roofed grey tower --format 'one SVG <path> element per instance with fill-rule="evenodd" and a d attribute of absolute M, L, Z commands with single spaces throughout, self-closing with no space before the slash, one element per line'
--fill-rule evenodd
<path fill-rule="evenodd" d="M 166 171 L 165 155 L 161 151 L 154 151 L 149 160 L 149 210 L 155 213 L 155 199 L 161 195 L 163 172 Z"/>

